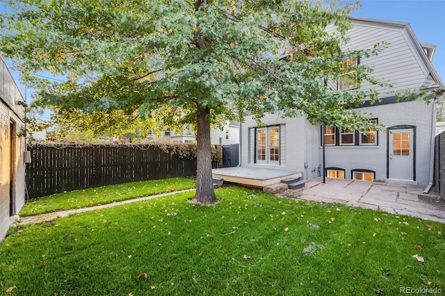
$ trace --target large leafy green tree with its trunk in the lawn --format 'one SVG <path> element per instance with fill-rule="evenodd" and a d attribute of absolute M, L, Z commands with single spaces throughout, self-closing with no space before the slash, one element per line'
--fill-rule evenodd
<path fill-rule="evenodd" d="M 65 110 L 122 110 L 140 118 L 181 110 L 197 128 L 195 199 L 216 202 L 210 126 L 266 112 L 369 129 L 353 110 L 375 92 L 339 92 L 340 51 L 356 3 L 305 0 L 10 0 L 0 49 L 38 101 Z M 327 29 L 329 28 L 329 29 Z M 329 33 L 328 33 L 329 32 Z M 348 69 L 346 69 L 348 70 Z M 358 79 L 372 81 L 359 66 Z M 66 82 L 32 74 L 49 71 Z"/>

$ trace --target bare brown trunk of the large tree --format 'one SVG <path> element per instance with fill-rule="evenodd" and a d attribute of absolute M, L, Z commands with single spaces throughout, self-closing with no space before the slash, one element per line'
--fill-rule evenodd
<path fill-rule="evenodd" d="M 195 202 L 213 204 L 216 202 L 211 175 L 210 108 L 197 104 L 197 172 Z"/>

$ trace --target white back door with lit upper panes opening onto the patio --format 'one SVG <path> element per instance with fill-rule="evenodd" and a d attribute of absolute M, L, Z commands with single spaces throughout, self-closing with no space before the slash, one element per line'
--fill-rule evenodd
<path fill-rule="evenodd" d="M 414 180 L 414 130 L 391 129 L 389 133 L 389 179 Z"/>

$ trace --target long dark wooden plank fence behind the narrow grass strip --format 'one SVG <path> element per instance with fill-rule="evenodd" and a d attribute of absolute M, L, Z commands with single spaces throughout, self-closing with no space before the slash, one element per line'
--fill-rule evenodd
<path fill-rule="evenodd" d="M 168 145 L 33 145 L 26 165 L 29 198 L 104 185 L 195 176 L 195 156 Z M 220 159 L 213 161 L 220 167 Z"/>

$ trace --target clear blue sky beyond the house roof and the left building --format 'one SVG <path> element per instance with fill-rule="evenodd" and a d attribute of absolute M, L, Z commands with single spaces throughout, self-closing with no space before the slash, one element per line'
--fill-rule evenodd
<path fill-rule="evenodd" d="M 362 8 L 353 16 L 410 23 L 420 42 L 436 45 L 432 64 L 445 82 L 445 0 L 362 0 L 361 3 Z M 24 95 L 19 73 L 13 72 L 13 76 Z M 27 100 L 31 92 L 28 90 Z M 43 119 L 48 119 L 47 116 Z"/>

